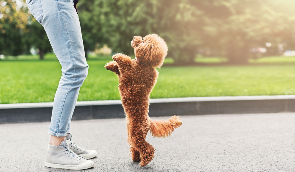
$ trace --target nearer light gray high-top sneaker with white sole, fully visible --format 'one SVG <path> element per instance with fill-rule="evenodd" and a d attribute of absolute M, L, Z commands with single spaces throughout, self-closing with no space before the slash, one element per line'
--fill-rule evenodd
<path fill-rule="evenodd" d="M 45 166 L 51 168 L 64 168 L 70 170 L 83 170 L 94 166 L 94 162 L 78 156 L 69 148 L 70 139 L 63 141 L 58 146 L 48 143 L 45 155 Z"/>

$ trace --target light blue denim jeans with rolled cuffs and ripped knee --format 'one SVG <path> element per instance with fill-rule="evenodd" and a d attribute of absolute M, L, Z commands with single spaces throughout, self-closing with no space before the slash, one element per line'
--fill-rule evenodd
<path fill-rule="evenodd" d="M 80 22 L 73 4 L 73 0 L 27 0 L 62 66 L 63 76 L 55 93 L 48 132 L 57 137 L 70 132 L 79 90 L 88 74 Z"/>

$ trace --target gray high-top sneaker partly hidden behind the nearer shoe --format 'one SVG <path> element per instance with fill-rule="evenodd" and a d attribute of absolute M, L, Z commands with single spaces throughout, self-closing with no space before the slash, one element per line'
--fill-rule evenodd
<path fill-rule="evenodd" d="M 85 159 L 94 158 L 97 155 L 95 150 L 86 150 L 84 148 L 80 148 L 75 143 L 72 142 L 72 133 L 68 133 L 65 139 L 70 139 L 69 148 L 73 150 L 77 155 L 83 156 Z"/>

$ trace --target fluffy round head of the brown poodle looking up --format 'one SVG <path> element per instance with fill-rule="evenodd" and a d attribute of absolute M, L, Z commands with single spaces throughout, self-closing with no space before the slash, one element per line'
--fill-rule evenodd
<path fill-rule="evenodd" d="M 134 36 L 131 46 L 139 61 L 154 68 L 162 66 L 168 51 L 165 41 L 157 34 L 147 35 L 143 40 L 140 36 Z"/>

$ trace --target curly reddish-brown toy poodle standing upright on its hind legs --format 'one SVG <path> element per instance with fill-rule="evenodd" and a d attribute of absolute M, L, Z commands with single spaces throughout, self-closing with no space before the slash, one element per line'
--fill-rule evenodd
<path fill-rule="evenodd" d="M 115 54 L 105 65 L 118 75 L 119 91 L 126 114 L 128 143 L 133 161 L 146 166 L 154 157 L 155 149 L 145 138 L 148 131 L 154 137 L 168 137 L 182 122 L 178 116 L 167 121 L 152 121 L 148 116 L 150 92 L 158 78 L 156 67 L 161 67 L 167 55 L 165 41 L 156 34 L 143 38 L 134 36 L 131 41 L 136 58 Z"/>

